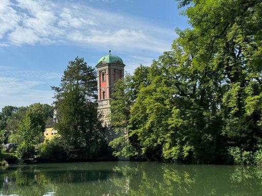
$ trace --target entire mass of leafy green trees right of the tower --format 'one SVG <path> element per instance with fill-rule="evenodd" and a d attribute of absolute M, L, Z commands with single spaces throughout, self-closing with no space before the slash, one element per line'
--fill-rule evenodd
<path fill-rule="evenodd" d="M 179 1 L 191 28 L 116 85 L 116 154 L 193 163 L 262 162 L 261 1 Z M 119 106 L 122 107 L 119 107 Z"/>

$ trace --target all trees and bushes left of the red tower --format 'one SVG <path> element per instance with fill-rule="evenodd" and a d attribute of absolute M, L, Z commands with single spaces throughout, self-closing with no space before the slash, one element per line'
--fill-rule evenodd
<path fill-rule="evenodd" d="M 97 104 L 95 68 L 83 58 L 70 61 L 60 86 L 55 90 L 54 107 L 32 104 L 6 106 L 0 113 L 0 143 L 17 143 L 16 156 L 27 162 L 62 162 L 110 159 Z M 53 112 L 58 122 L 53 124 Z M 44 142 L 44 131 L 53 127 L 58 135 Z"/>

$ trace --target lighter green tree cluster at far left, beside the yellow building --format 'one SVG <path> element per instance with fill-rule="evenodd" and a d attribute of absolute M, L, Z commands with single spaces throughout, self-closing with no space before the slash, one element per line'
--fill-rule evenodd
<path fill-rule="evenodd" d="M 11 149 L 21 159 L 39 156 L 46 125 L 52 122 L 54 107 L 48 104 L 32 104 L 27 107 L 5 106 L 0 112 L 0 143 L 17 143 Z M 1 149 L 2 150 L 2 149 Z"/>

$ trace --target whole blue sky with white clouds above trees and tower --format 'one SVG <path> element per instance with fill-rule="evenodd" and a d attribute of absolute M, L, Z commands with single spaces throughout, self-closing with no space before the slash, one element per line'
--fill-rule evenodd
<path fill-rule="evenodd" d="M 149 66 L 188 27 L 175 0 L 0 0 L 0 111 L 53 103 L 68 62 L 95 67 L 122 58 L 125 71 Z"/>

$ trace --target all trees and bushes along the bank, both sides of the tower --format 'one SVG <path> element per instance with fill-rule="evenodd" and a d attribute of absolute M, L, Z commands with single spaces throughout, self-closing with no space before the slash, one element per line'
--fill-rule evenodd
<path fill-rule="evenodd" d="M 180 0 L 191 28 L 172 50 L 115 84 L 115 155 L 186 163 L 262 164 L 262 1 Z M 55 90 L 59 137 L 43 143 L 53 107 L 7 106 L 0 140 L 21 158 L 108 156 L 95 69 L 70 61 Z M 121 147 L 121 148 L 119 148 Z"/>

